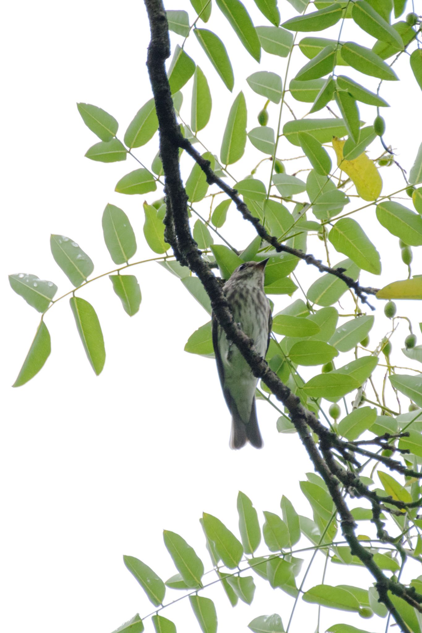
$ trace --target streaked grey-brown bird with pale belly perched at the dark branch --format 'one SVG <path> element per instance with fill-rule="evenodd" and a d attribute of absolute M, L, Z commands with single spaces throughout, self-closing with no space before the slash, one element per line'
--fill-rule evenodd
<path fill-rule="evenodd" d="M 264 271 L 268 259 L 245 261 L 223 285 L 233 319 L 254 342 L 258 354 L 266 355 L 271 335 L 271 306 L 264 293 Z M 256 417 L 256 378 L 235 344 L 212 315 L 213 348 L 221 388 L 230 413 L 232 434 L 230 448 L 239 449 L 250 442 L 261 448 L 263 440 Z"/>

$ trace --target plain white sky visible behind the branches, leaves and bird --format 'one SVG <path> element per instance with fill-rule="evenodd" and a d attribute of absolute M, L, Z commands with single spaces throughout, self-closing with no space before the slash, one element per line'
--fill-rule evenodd
<path fill-rule="evenodd" d="M 296 15 L 287 1 L 280 0 L 279 4 L 282 22 Z M 268 24 L 251 0 L 246 6 L 256 25 Z M 191 22 L 195 17 L 187 0 L 169 1 L 166 8 L 187 9 Z M 422 13 L 420 2 L 415 8 Z M 299 480 L 305 479 L 304 473 L 312 467 L 296 436 L 276 432 L 276 412 L 262 403 L 258 404 L 258 417 L 264 449 L 230 451 L 230 415 L 214 362 L 183 351 L 189 335 L 208 316 L 180 282 L 155 263 L 130 270 L 137 275 L 142 290 L 140 311 L 131 319 L 107 277 L 78 292 L 94 305 L 102 325 L 107 359 L 100 377 L 94 375 L 85 358 L 68 300 L 63 299 L 46 318 L 53 349 L 42 372 L 19 389 L 9 387 L 27 354 L 39 315 L 11 291 L 6 274 L 22 271 L 51 279 L 59 286 L 57 296 L 71 289 L 51 256 L 50 233 L 63 233 L 76 240 L 94 261 L 94 275 L 112 270 L 115 266 L 102 239 L 101 215 L 104 206 L 113 203 L 128 213 L 135 229 L 136 260 L 154 254 L 142 232 L 144 197 L 114 192 L 116 182 L 137 168 L 135 161 L 128 156 L 125 163 L 104 165 L 84 158 L 88 147 L 99 139 L 85 127 L 75 105 L 84 101 L 104 108 L 117 118 L 118 136 L 123 139 L 128 123 L 151 97 L 145 66 L 149 27 L 143 3 L 8 3 L 4 13 L 1 46 L 7 65 L 1 170 L 4 261 L 0 284 L 6 359 L 1 365 L 2 506 L 6 522 L 0 627 L 8 632 L 29 626 L 43 633 L 58 629 L 61 633 L 107 633 L 137 611 L 141 616 L 152 611 L 124 567 L 123 554 L 137 556 L 163 580 L 168 579 L 175 568 L 164 548 L 165 528 L 181 534 L 210 569 L 198 522 L 202 511 L 216 515 L 237 533 L 236 497 L 241 489 L 252 499 L 260 517 L 262 510 L 280 511 L 282 494 L 298 511 L 311 516 Z M 337 39 L 339 27 L 340 23 L 332 27 L 331 37 Z M 284 77 L 286 60 L 263 51 L 259 66 L 216 6 L 205 28 L 216 30 L 223 39 L 235 72 L 235 87 L 230 94 L 195 37 L 189 38 L 185 50 L 206 74 L 213 95 L 211 121 L 200 137 L 213 153 L 219 154 L 228 110 L 240 89 L 247 99 L 248 130 L 258 125 L 256 115 L 265 99 L 249 89 L 244 77 L 256 70 L 272 70 Z M 342 39 L 354 39 L 356 31 L 347 20 Z M 359 43 L 373 44 L 373 38 L 360 30 L 357 37 Z M 173 46 L 181 44 L 182 38 L 172 34 L 172 42 Z M 296 49 L 290 78 L 306 61 Z M 382 88 L 382 96 L 392 106 L 382 112 L 387 122 L 385 140 L 397 147 L 398 160 L 409 171 L 422 141 L 421 92 L 406 55 L 397 63 L 396 72 L 402 81 L 384 82 Z M 339 73 L 359 81 L 359 73 L 351 68 L 340 67 Z M 360 77 L 364 85 L 376 90 L 378 80 Z M 182 116 L 188 123 L 191 85 L 192 80 L 183 89 Z M 302 106 L 290 96 L 287 101 L 298 116 L 311 105 Z M 361 118 L 370 123 L 375 109 L 360 109 Z M 270 104 L 269 112 L 269 125 L 276 127 L 278 106 Z M 329 115 L 321 112 L 316 116 Z M 290 118 L 285 110 L 283 123 Z M 147 166 L 151 165 L 157 143 L 156 136 L 135 151 Z M 375 158 L 381 151 L 380 144 L 374 142 L 369 155 Z M 279 158 L 298 154 L 296 147 L 282 139 Z M 333 152 L 331 155 L 334 159 Z M 230 166 L 230 172 L 240 180 L 263 156 L 248 141 L 245 159 Z M 184 177 L 192 164 L 188 156 L 183 156 Z M 292 173 L 289 163 L 286 166 Z M 267 182 L 268 168 L 258 171 L 256 177 Z M 397 168 L 382 170 L 382 177 L 383 193 L 404 184 Z M 151 203 L 159 195 L 145 197 Z M 412 208 L 409 198 L 402 203 Z M 398 240 L 376 222 L 374 207 L 364 214 L 364 228 L 382 254 L 383 273 L 380 281 L 363 272 L 361 282 L 380 286 L 405 279 L 407 267 L 401 263 Z M 246 246 L 253 237 L 252 229 L 241 221 L 233 205 L 222 233 L 237 247 Z M 309 243 L 311 252 L 323 256 L 321 242 L 313 239 Z M 420 255 L 417 249 L 413 251 L 413 270 L 421 272 Z M 332 249 L 333 263 L 343 258 Z M 318 274 L 304 264 L 296 272 L 305 289 Z M 299 297 L 297 291 L 294 299 Z M 290 303 L 285 296 L 273 299 L 275 312 Z M 380 326 L 376 334 L 371 333 L 372 341 L 388 331 L 383 304 L 377 304 L 377 308 Z M 399 313 L 413 314 L 416 327 L 421 320 L 418 312 L 419 303 L 399 305 Z M 393 339 L 396 348 L 402 346 L 407 333 L 406 326 L 400 325 Z M 400 364 L 405 360 L 402 354 L 393 359 L 400 360 Z M 309 546 L 305 539 L 303 546 Z M 258 554 L 261 551 L 266 551 L 264 545 Z M 323 556 L 318 555 L 305 589 L 320 582 L 322 567 Z M 328 567 L 328 584 L 367 586 L 366 572 L 345 567 L 337 570 L 333 565 Z M 239 603 L 232 610 L 219 586 L 203 594 L 216 602 L 220 633 L 247 630 L 252 618 L 264 613 L 280 613 L 287 625 L 292 600 L 281 591 L 271 590 L 255 574 L 253 577 L 257 591 L 251 607 Z M 174 598 L 181 595 L 168 590 L 166 602 L 173 594 Z M 180 611 L 185 615 L 179 615 Z M 299 604 L 292 633 L 313 631 L 316 613 L 316 606 Z M 199 630 L 187 601 L 164 610 L 163 615 L 174 620 L 179 631 Z M 328 610 L 323 610 L 321 622 L 321 630 L 337 622 L 349 622 L 375 633 L 385 627 L 385 621 L 376 618 L 366 621 L 354 614 Z M 150 620 L 146 629 L 152 630 Z"/>

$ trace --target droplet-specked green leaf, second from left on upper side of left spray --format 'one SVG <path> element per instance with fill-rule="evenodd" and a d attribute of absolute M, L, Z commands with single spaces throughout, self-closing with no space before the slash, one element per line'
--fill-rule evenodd
<path fill-rule="evenodd" d="M 54 261 L 75 287 L 86 281 L 94 270 L 89 256 L 66 235 L 51 235 L 50 248 Z"/>

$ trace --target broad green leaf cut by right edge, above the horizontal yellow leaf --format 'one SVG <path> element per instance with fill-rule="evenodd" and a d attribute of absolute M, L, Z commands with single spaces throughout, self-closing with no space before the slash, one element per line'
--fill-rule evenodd
<path fill-rule="evenodd" d="M 409 246 L 422 245 L 422 217 L 418 213 L 387 200 L 376 206 L 376 217 L 385 229 Z"/>

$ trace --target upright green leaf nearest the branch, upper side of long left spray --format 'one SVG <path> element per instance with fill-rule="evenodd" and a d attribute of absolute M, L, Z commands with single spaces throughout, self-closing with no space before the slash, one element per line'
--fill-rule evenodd
<path fill-rule="evenodd" d="M 136 239 L 129 218 L 124 211 L 108 204 L 102 214 L 104 242 L 115 264 L 124 264 L 136 253 Z"/>

